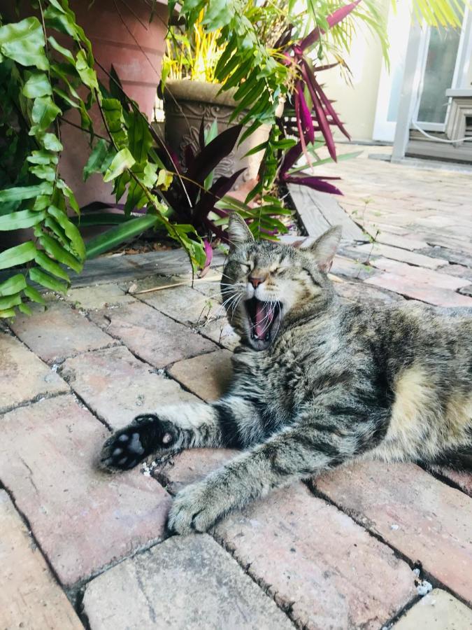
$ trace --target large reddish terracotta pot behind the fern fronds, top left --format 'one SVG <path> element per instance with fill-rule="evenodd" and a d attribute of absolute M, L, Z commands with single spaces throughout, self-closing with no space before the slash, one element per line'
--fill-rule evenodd
<path fill-rule="evenodd" d="M 107 71 L 115 68 L 124 91 L 134 99 L 141 111 L 152 120 L 157 85 L 161 78 L 161 64 L 165 49 L 168 10 L 166 3 L 157 3 L 152 22 L 150 6 L 145 2 L 133 2 L 132 10 L 126 3 L 114 0 L 96 0 L 89 8 L 85 0 L 70 0 L 69 6 L 76 13 L 78 24 L 92 42 L 94 57 Z M 121 15 L 117 13 L 117 6 Z M 130 4 L 131 6 L 131 4 Z M 108 86 L 106 73 L 96 68 L 99 79 Z M 94 128 L 105 134 L 96 106 L 90 111 Z M 66 113 L 66 119 L 80 125 L 77 111 Z M 63 123 L 62 144 L 64 151 L 59 163 L 59 172 L 72 188 L 78 204 L 83 207 L 91 202 L 113 202 L 113 186 L 103 183 L 100 174 L 83 181 L 90 147 L 87 134 Z"/>

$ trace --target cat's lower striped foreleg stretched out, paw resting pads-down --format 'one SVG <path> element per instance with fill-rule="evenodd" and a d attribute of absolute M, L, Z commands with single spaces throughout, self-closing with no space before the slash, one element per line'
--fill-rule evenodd
<path fill-rule="evenodd" d="M 344 409 L 348 412 L 348 406 Z M 301 418 L 203 481 L 187 486 L 171 507 L 169 530 L 180 534 L 206 531 L 230 510 L 272 489 L 320 474 L 375 447 L 385 433 L 387 419 L 369 419 L 369 410 L 364 413 L 359 407 L 356 414 L 334 416 L 321 410 Z"/>

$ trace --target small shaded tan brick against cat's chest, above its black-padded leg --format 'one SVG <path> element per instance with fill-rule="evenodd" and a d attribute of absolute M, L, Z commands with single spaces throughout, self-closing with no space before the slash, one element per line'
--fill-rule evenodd
<path fill-rule="evenodd" d="M 231 382 L 231 352 L 217 350 L 174 363 L 169 374 L 203 400 L 217 400 Z"/>

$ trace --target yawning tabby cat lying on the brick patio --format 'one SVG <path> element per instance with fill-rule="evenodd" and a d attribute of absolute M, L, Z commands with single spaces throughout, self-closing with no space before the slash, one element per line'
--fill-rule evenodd
<path fill-rule="evenodd" d="M 339 228 L 306 249 L 255 242 L 236 214 L 222 276 L 241 335 L 217 402 L 137 416 L 104 444 L 101 466 L 236 447 L 241 455 L 174 500 L 169 530 L 206 531 L 294 479 L 349 461 L 472 465 L 472 311 L 345 303 L 328 279 Z"/>

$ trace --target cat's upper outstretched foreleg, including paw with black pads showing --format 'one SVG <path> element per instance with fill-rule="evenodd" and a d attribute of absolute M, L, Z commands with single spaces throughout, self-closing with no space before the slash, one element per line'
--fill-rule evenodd
<path fill-rule="evenodd" d="M 129 470 L 149 455 L 163 456 L 181 449 L 241 448 L 245 443 L 238 427 L 243 418 L 257 423 L 257 409 L 234 395 L 210 404 L 187 402 L 141 414 L 103 444 L 101 468 Z"/>

